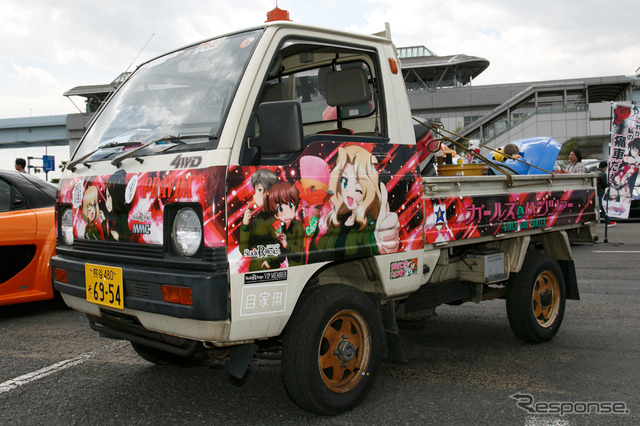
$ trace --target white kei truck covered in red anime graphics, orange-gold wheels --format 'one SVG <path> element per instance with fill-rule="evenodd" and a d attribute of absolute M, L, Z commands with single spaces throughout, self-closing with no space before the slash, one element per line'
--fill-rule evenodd
<path fill-rule="evenodd" d="M 242 378 L 280 351 L 290 397 L 325 415 L 438 305 L 506 299 L 519 338 L 551 339 L 593 178 L 427 176 L 419 127 L 388 31 L 271 22 L 146 62 L 60 180 L 54 287 L 152 363 L 229 356 Z"/>

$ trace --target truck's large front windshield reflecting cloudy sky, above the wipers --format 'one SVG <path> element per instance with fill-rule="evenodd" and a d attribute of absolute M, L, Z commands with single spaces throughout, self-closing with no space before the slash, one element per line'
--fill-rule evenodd
<path fill-rule="evenodd" d="M 214 39 L 142 65 L 105 106 L 74 159 L 113 157 L 166 135 L 184 137 L 171 146 L 206 143 L 214 148 L 260 34 L 255 30 Z M 166 149 L 148 144 L 141 155 Z"/>

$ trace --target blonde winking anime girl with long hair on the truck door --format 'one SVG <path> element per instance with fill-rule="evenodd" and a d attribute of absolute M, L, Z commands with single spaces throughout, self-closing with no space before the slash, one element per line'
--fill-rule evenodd
<path fill-rule="evenodd" d="M 312 261 L 398 251 L 400 223 L 398 215 L 389 212 L 387 191 L 379 182 L 376 163 L 363 147 L 338 148 L 329 184 L 333 210 L 324 218 L 327 232 L 319 238 Z"/>

